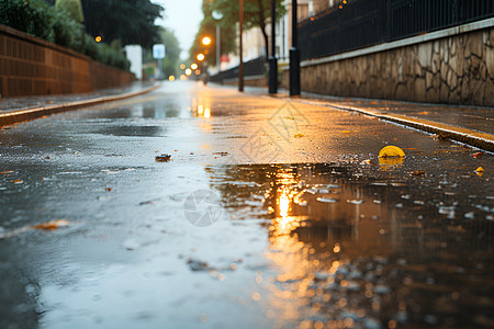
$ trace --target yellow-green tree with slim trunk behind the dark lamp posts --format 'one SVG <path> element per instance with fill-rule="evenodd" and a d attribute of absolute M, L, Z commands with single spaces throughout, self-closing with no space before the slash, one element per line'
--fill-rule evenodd
<path fill-rule="evenodd" d="M 235 26 L 239 19 L 239 1 L 205 0 L 210 2 L 211 11 L 216 10 L 223 14 L 222 26 Z M 277 20 L 287 13 L 283 0 L 277 0 Z M 271 0 L 244 0 L 245 30 L 259 27 L 265 38 L 266 56 L 269 56 L 269 38 L 266 27 L 271 21 Z"/>

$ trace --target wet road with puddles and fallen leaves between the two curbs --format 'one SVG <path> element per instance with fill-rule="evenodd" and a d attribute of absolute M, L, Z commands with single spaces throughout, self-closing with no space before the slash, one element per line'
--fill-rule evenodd
<path fill-rule="evenodd" d="M 0 131 L 0 327 L 492 328 L 476 152 L 184 82 Z"/>

